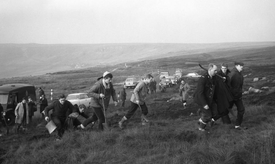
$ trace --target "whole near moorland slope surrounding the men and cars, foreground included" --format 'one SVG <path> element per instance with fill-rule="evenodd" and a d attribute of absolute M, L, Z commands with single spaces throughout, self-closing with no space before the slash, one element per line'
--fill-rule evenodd
<path fill-rule="evenodd" d="M 223 125 L 221 120 L 210 128 L 209 133 L 198 130 L 196 114 L 198 106 L 188 99 L 188 109 L 183 108 L 178 96 L 178 85 L 168 88 L 165 93 L 148 95 L 146 104 L 149 109 L 148 118 L 157 126 L 141 125 L 140 111 L 126 123 L 127 128 L 121 130 L 118 121 L 129 109 L 129 99 L 125 108 L 115 107 L 112 103 L 107 110 L 107 121 L 111 131 L 99 132 L 97 126 L 87 131 L 66 132 L 61 142 L 56 142 L 56 134 L 44 133 L 45 121 L 36 119 L 26 134 L 4 136 L 0 142 L 0 163 L 273 163 L 275 160 L 275 47 L 236 49 L 231 51 L 213 51 L 196 55 L 174 56 L 133 62 L 135 68 L 93 67 L 74 71 L 61 71 L 48 75 L 32 77 L 15 77 L 0 79 L 1 84 L 29 83 L 42 86 L 47 98 L 50 89 L 54 94 L 86 92 L 106 70 L 111 70 L 113 83 L 118 91 L 126 77 L 141 78 L 151 73 L 158 79 L 160 71 L 176 68 L 202 73 L 198 67 L 189 67 L 184 62 L 229 63 L 243 61 L 244 91 L 249 87 L 269 87 L 263 93 L 243 95 L 245 114 L 243 126 L 245 131 L 234 129 L 235 118 L 230 115 L 232 124 Z M 251 75 L 249 75 L 251 74 Z M 266 77 L 266 80 L 253 82 L 254 77 Z M 188 81 L 191 86 L 190 95 L 197 87 L 196 81 Z M 49 101 L 50 102 L 50 101 Z M 233 111 L 237 113 L 236 108 Z M 86 112 L 91 114 L 91 110 Z M 191 114 L 193 113 L 193 114 Z M 5 128 L 3 133 L 5 133 Z"/>

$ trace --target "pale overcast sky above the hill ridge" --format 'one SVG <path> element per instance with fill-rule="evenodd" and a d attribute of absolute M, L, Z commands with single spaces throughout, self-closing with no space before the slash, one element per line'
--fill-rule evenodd
<path fill-rule="evenodd" d="M 275 41 L 275 0 L 1 0 L 0 43 Z"/>

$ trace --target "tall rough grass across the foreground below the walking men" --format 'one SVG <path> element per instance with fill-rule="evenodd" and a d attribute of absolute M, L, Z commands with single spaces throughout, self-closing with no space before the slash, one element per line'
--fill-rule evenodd
<path fill-rule="evenodd" d="M 204 133 L 198 130 L 197 116 L 156 119 L 161 128 L 136 125 L 125 130 L 73 131 L 60 142 L 52 136 L 11 146 L 2 163 L 272 163 L 272 110 L 247 106 L 244 124 L 250 125 L 245 131 L 218 121 Z M 261 115 L 266 119 L 257 121 Z"/>

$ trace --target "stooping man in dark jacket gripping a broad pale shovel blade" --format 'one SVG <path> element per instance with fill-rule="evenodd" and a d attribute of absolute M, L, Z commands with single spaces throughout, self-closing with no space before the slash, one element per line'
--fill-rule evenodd
<path fill-rule="evenodd" d="M 53 109 L 53 110 L 52 110 Z M 64 94 L 58 96 L 58 101 L 51 103 L 49 106 L 45 108 L 45 120 L 49 120 L 49 111 L 52 110 L 52 121 L 56 125 L 57 130 L 57 139 L 59 141 L 64 134 L 64 123 L 68 114 L 77 112 L 76 108 L 70 103 L 70 101 L 66 100 Z M 69 110 L 69 111 L 68 111 Z"/>

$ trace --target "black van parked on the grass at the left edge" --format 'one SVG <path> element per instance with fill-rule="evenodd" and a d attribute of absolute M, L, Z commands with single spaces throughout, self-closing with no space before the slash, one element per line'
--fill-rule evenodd
<path fill-rule="evenodd" d="M 22 102 L 22 98 L 32 97 L 36 104 L 36 93 L 34 85 L 29 84 L 5 84 L 0 85 L 0 103 L 4 108 L 5 119 L 8 125 L 15 122 L 15 107 Z M 36 105 L 34 106 L 36 107 Z"/>

